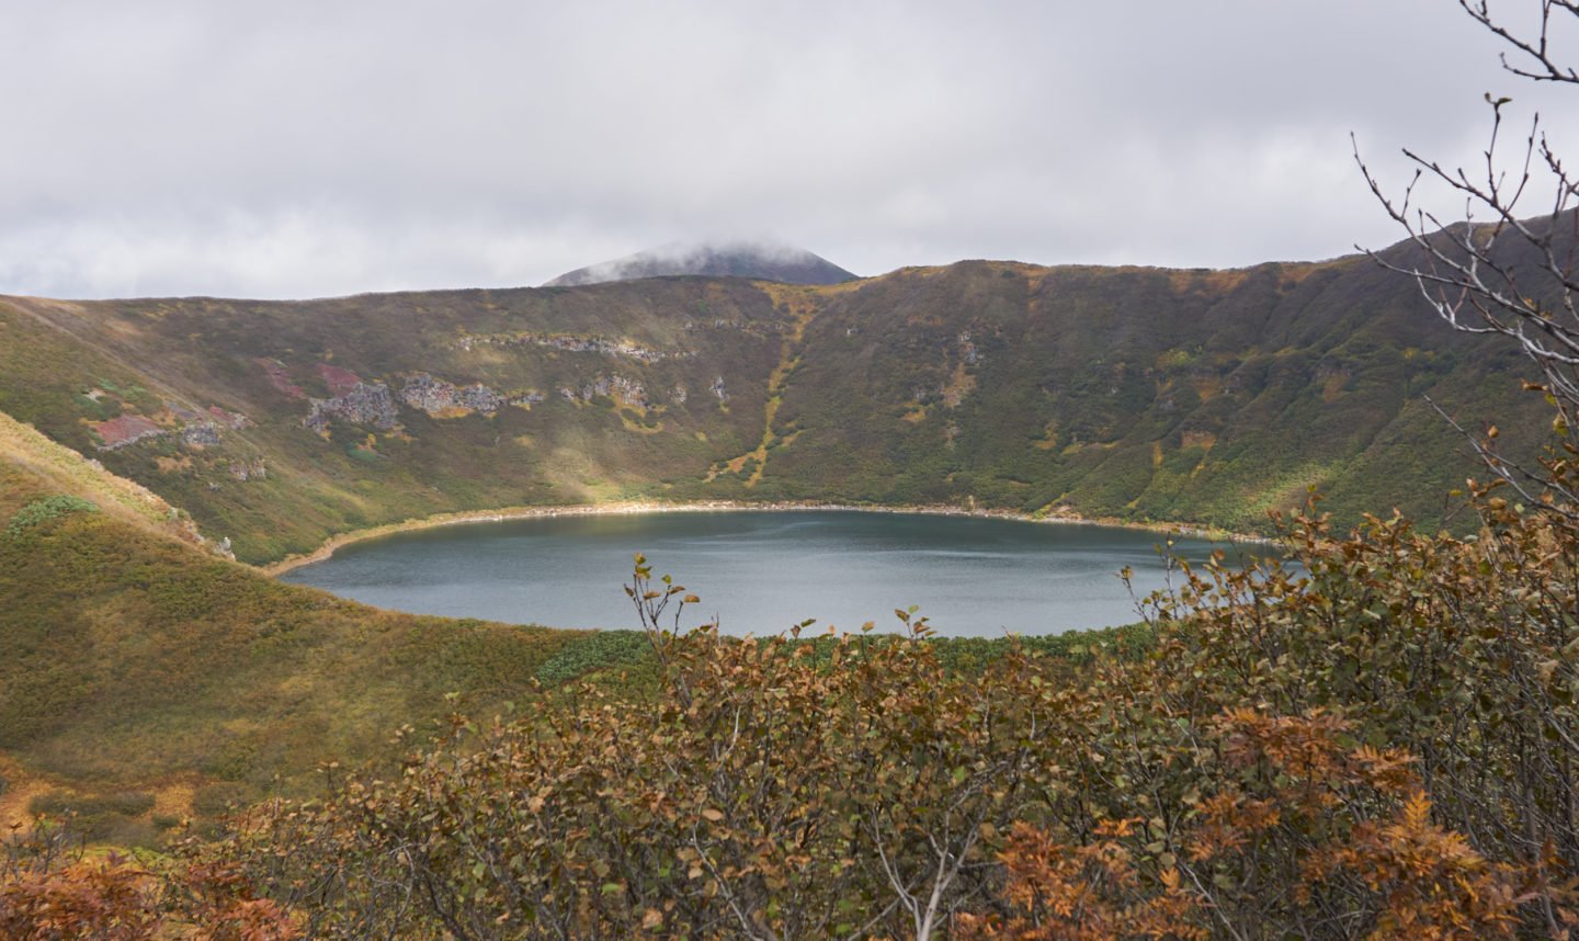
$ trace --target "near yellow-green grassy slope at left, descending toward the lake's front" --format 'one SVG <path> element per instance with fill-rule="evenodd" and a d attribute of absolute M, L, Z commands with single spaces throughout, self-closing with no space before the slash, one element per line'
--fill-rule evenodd
<path fill-rule="evenodd" d="M 393 755 L 390 733 L 428 734 L 448 692 L 518 698 L 589 636 L 276 583 L 0 417 L 0 823 L 76 808 L 145 840 L 275 775 L 297 789 L 321 761 Z"/>

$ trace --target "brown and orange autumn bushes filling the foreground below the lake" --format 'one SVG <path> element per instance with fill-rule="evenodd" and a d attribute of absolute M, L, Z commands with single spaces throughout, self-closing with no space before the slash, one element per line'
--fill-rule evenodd
<path fill-rule="evenodd" d="M 638 562 L 657 695 L 455 715 L 177 872 L 321 938 L 1565 936 L 1579 535 L 1472 499 L 1470 538 L 1290 519 L 1287 562 L 1183 568 L 1146 652 L 979 674 L 921 619 L 676 636 Z"/>

